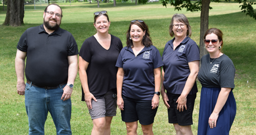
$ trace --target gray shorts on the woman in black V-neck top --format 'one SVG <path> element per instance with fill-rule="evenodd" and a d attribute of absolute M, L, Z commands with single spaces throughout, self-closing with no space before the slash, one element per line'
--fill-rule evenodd
<path fill-rule="evenodd" d="M 89 113 L 92 119 L 112 117 L 116 115 L 116 108 L 116 98 L 113 98 L 113 91 L 108 90 L 103 98 L 97 99 L 97 102 L 92 99 L 92 109 L 89 109 Z"/>

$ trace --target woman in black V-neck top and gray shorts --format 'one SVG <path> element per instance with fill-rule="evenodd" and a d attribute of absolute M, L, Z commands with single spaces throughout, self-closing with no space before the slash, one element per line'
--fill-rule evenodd
<path fill-rule="evenodd" d="M 110 134 L 116 115 L 116 60 L 122 50 L 118 37 L 110 35 L 107 11 L 94 13 L 97 33 L 87 38 L 79 52 L 79 76 L 82 100 L 93 121 L 92 134 Z"/>

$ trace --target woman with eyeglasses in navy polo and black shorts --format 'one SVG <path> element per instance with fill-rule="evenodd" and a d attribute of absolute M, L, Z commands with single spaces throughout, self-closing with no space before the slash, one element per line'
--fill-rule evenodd
<path fill-rule="evenodd" d="M 174 38 L 167 42 L 162 56 L 161 93 L 168 108 L 169 123 L 173 123 L 176 134 L 193 134 L 191 124 L 197 93 L 199 47 L 189 38 L 191 26 L 183 14 L 173 15 L 169 33 Z"/>

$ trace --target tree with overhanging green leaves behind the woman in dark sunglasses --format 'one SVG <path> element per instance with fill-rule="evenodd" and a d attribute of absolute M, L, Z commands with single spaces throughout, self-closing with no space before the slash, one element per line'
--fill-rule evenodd
<path fill-rule="evenodd" d="M 143 1 L 143 0 L 141 0 Z M 201 24 L 200 24 L 200 57 L 207 54 L 207 51 L 204 48 L 203 36 L 205 32 L 208 30 L 208 18 L 209 18 L 209 9 L 210 2 L 220 2 L 220 0 L 198 0 L 195 3 L 191 3 L 191 0 L 172 0 L 170 1 L 170 6 L 174 6 L 174 10 L 181 10 L 182 8 L 187 8 L 187 11 L 195 12 L 201 11 Z M 225 0 L 226 2 L 228 0 Z M 241 12 L 246 13 L 250 17 L 253 17 L 256 20 L 256 12 L 252 7 L 256 2 L 248 2 L 247 0 L 234 0 L 235 2 L 243 3 L 239 7 L 241 7 Z M 167 6 L 169 0 L 163 0 L 161 3 L 163 6 Z"/>

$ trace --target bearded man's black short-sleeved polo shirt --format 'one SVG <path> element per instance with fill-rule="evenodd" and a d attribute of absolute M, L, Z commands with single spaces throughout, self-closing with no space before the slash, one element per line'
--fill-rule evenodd
<path fill-rule="evenodd" d="M 17 49 L 27 52 L 26 78 L 37 86 L 58 86 L 68 81 L 68 56 L 78 54 L 77 42 L 62 28 L 48 34 L 44 26 L 28 28 Z"/>

